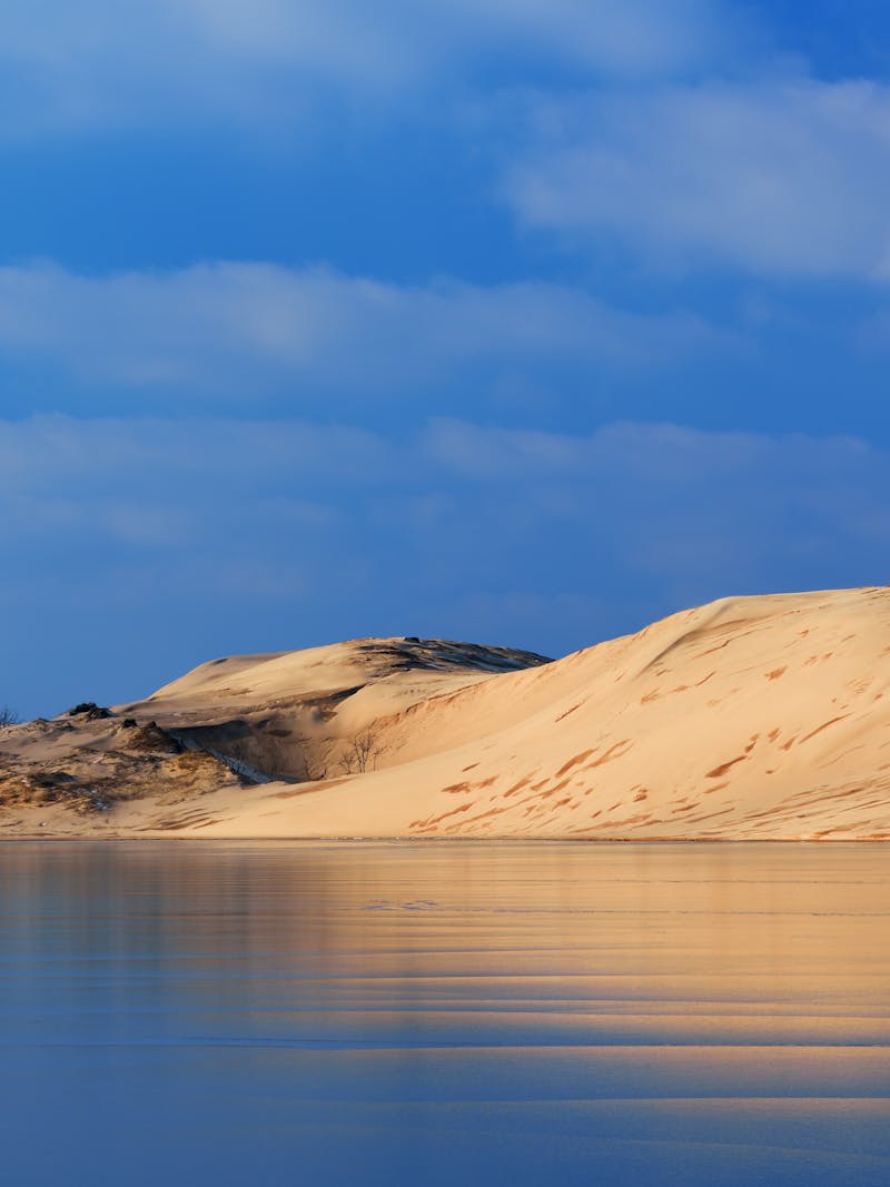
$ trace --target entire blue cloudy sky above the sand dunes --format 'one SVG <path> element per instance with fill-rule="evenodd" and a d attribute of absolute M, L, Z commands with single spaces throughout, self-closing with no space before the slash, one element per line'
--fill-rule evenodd
<path fill-rule="evenodd" d="M 0 704 L 888 582 L 884 0 L 7 0 Z"/>

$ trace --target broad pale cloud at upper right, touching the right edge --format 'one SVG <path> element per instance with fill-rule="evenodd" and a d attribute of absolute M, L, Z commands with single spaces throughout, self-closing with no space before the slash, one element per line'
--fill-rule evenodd
<path fill-rule="evenodd" d="M 541 100 L 504 192 L 574 246 L 787 278 L 890 274 L 890 88 L 708 82 Z"/>

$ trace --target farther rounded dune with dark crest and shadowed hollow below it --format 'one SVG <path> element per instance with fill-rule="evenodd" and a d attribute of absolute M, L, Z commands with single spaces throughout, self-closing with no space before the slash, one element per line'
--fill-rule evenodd
<path fill-rule="evenodd" d="M 306 782 L 357 764 L 387 766 L 377 723 L 389 726 L 412 705 L 548 662 L 533 652 L 438 639 L 356 639 L 211 660 L 126 712 L 266 775 Z M 355 740 L 365 735 L 358 763 Z"/>

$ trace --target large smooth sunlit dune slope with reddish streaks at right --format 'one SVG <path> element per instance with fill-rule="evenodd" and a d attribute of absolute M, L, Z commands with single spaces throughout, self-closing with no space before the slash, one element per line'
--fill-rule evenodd
<path fill-rule="evenodd" d="M 890 838 L 890 589 L 729 598 L 376 722 L 221 836 Z"/>

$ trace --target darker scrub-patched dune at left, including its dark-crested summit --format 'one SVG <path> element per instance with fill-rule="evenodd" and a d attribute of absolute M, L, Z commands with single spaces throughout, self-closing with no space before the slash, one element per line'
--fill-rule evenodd
<path fill-rule="evenodd" d="M 414 637 L 212 660 L 142 702 L 83 702 L 52 721 L 0 728 L 0 836 L 197 829 L 227 791 L 236 795 L 228 817 L 250 830 L 258 785 L 330 787 L 382 767 L 379 719 L 547 662 Z"/>

